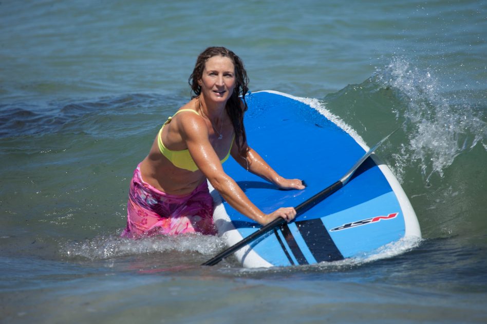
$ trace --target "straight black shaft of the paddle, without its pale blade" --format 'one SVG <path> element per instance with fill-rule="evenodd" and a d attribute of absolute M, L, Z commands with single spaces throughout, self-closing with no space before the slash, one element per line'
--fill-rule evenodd
<path fill-rule="evenodd" d="M 326 197 L 328 197 L 329 195 L 331 195 L 332 193 L 334 193 L 335 191 L 339 190 L 342 187 L 343 187 L 342 181 L 338 180 L 333 185 L 331 185 L 328 188 L 320 191 L 319 193 L 315 194 L 314 196 L 312 196 L 308 200 L 302 202 L 301 204 L 299 204 L 295 208 L 296 209 L 296 216 L 307 211 L 308 209 L 310 209 L 314 205 L 318 204 L 320 201 L 322 201 L 323 199 L 325 199 Z M 211 258 L 210 260 L 204 262 L 204 264 L 202 264 L 202 266 L 214 266 L 214 265 L 216 265 L 222 259 L 230 256 L 232 253 L 234 253 L 234 252 L 238 251 L 239 249 L 241 249 L 242 247 L 246 246 L 249 242 L 259 238 L 260 236 L 266 234 L 270 230 L 285 224 L 285 222 L 286 222 L 286 220 L 284 218 L 277 217 L 276 219 L 271 221 L 269 224 L 260 228 L 257 232 L 250 234 L 246 238 L 239 241 L 237 244 L 231 246 L 227 250 L 221 252 L 220 254 L 217 254 L 216 256 Z"/>

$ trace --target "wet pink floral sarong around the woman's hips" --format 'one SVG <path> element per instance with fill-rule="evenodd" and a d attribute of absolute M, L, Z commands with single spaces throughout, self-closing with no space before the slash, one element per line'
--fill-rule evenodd
<path fill-rule="evenodd" d="M 216 234 L 207 181 L 187 195 L 170 195 L 145 183 L 137 166 L 128 193 L 127 228 L 121 236 L 194 232 Z"/>

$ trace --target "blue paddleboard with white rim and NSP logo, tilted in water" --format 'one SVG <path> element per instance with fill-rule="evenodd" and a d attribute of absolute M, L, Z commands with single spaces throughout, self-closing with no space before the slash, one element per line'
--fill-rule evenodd
<path fill-rule="evenodd" d="M 280 190 L 229 159 L 225 172 L 265 213 L 301 204 L 340 179 L 369 149 L 316 100 L 276 91 L 254 92 L 246 100 L 249 146 L 280 175 L 307 184 L 304 190 Z M 215 225 L 229 247 L 261 227 L 211 185 L 210 190 Z M 309 265 L 364 255 L 413 236 L 421 237 L 416 214 L 394 174 L 372 154 L 346 186 L 235 255 L 249 268 Z"/>

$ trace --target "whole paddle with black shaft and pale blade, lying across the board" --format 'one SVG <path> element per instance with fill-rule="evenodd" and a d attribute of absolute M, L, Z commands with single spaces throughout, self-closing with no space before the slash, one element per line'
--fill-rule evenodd
<path fill-rule="evenodd" d="M 389 135 L 387 135 L 386 137 L 384 137 L 383 139 L 381 139 L 379 141 L 379 143 L 377 143 L 370 150 L 368 150 L 367 153 L 365 153 L 357 161 L 357 163 L 355 163 L 353 165 L 353 167 L 350 170 L 348 170 L 348 172 L 345 173 L 345 175 L 342 178 L 340 178 L 340 180 L 336 181 L 333 185 L 329 186 L 328 188 L 325 188 L 324 190 L 322 190 L 319 193 L 315 194 L 314 196 L 312 196 L 308 200 L 306 200 L 306 201 L 302 202 L 301 204 L 299 204 L 295 208 L 295 210 L 296 210 L 296 217 L 299 214 L 303 213 L 304 211 L 306 211 L 306 210 L 310 209 L 311 207 L 315 206 L 316 204 L 318 204 L 320 201 L 322 201 L 323 199 L 325 199 L 326 197 L 328 197 L 329 195 L 331 195 L 335 191 L 337 191 L 340 188 L 342 188 L 343 186 L 345 186 L 348 183 L 348 181 L 350 180 L 350 178 L 352 177 L 353 173 L 355 171 L 357 171 L 357 169 L 364 163 L 364 161 L 367 159 L 367 157 L 369 157 L 370 154 L 372 154 L 373 151 L 375 151 L 382 143 L 384 143 L 384 141 L 387 138 L 389 138 L 390 135 L 394 134 L 398 129 L 396 129 L 395 131 L 393 131 L 392 133 L 390 133 Z M 221 252 L 218 255 L 214 256 L 212 259 L 204 262 L 202 264 L 202 266 L 214 266 L 214 265 L 216 265 L 222 259 L 228 257 L 232 253 L 236 252 L 237 250 L 239 250 L 243 246 L 246 246 L 251 241 L 253 241 L 253 240 L 259 238 L 260 236 L 266 234 L 270 230 L 273 230 L 274 228 L 279 227 L 279 226 L 285 224 L 285 222 L 286 222 L 286 220 L 284 218 L 277 217 L 276 219 L 274 219 L 273 221 L 271 221 L 269 224 L 261 227 L 257 232 L 252 233 L 251 235 L 249 235 L 246 238 L 244 238 L 241 241 L 239 241 L 237 244 L 231 246 L 227 250 L 224 250 L 223 252 Z"/>

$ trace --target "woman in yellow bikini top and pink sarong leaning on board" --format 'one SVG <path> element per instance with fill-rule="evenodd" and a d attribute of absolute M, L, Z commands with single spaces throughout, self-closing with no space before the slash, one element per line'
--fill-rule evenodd
<path fill-rule="evenodd" d="M 292 207 L 260 211 L 223 171 L 222 163 L 232 155 L 279 188 L 304 189 L 301 180 L 278 175 L 247 144 L 248 78 L 240 58 L 226 48 L 210 47 L 198 56 L 189 83 L 195 96 L 167 119 L 134 171 L 122 235 L 215 234 L 207 179 L 233 208 L 262 225 L 277 217 L 294 219 Z"/>

